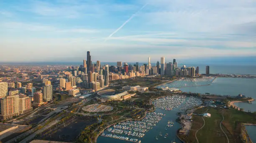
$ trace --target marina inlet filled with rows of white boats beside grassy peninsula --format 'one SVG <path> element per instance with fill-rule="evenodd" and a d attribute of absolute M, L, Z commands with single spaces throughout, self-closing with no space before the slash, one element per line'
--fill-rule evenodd
<path fill-rule="evenodd" d="M 173 122 L 178 117 L 176 113 L 178 111 L 185 111 L 201 103 L 201 99 L 184 95 L 174 95 L 156 99 L 153 101 L 153 104 L 157 107 L 155 112 L 147 113 L 146 117 L 141 121 L 130 120 L 117 123 L 107 128 L 101 136 L 118 139 L 119 141 L 140 143 L 144 142 L 145 138 L 150 138 L 152 132 L 158 131 L 158 133 L 154 133 L 153 138 L 151 136 L 152 142 L 153 140 L 154 142 L 171 142 L 176 138 L 176 132 L 181 126 L 180 124 L 175 126 L 176 123 Z M 161 123 L 160 126 L 159 123 Z M 179 143 L 179 141 L 177 141 L 177 143 Z"/>

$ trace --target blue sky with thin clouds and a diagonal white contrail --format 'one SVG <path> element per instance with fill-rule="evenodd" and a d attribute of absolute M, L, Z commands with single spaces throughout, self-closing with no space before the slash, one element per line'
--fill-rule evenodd
<path fill-rule="evenodd" d="M 256 0 L 0 0 L 0 62 L 256 57 Z M 209 60 L 208 60 L 209 61 Z"/>

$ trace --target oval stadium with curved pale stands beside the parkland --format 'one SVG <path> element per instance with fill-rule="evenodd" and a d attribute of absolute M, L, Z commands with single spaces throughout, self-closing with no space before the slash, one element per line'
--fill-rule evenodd
<path fill-rule="evenodd" d="M 103 90 L 97 93 L 97 99 L 101 101 L 123 100 L 131 97 L 127 91 Z"/>

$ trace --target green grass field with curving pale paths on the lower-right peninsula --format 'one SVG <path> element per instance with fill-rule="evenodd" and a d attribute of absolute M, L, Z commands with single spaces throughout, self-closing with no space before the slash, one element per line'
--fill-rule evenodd
<path fill-rule="evenodd" d="M 225 134 L 220 129 L 220 122 L 222 121 L 222 114 L 224 121 L 222 123 L 223 131 L 227 134 L 229 143 L 241 143 L 241 124 L 242 123 L 256 123 L 256 114 L 236 109 L 216 109 L 216 108 L 200 108 L 194 113 L 211 114 L 210 118 L 204 117 L 205 126 L 198 131 L 197 138 L 199 143 L 227 143 Z M 202 116 L 193 115 L 192 130 L 187 136 L 180 136 L 186 143 L 197 143 L 195 139 L 196 131 L 203 126 Z"/>

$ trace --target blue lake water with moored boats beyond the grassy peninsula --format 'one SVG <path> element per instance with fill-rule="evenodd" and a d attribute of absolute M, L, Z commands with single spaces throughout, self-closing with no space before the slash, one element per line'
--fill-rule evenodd
<path fill-rule="evenodd" d="M 210 84 L 210 85 L 208 85 Z M 192 85 L 192 86 L 191 86 Z M 207 85 L 207 86 L 196 86 L 196 85 Z M 227 78 L 218 77 L 212 83 L 210 81 L 187 81 L 178 80 L 172 83 L 163 84 L 158 86 L 161 87 L 177 87 L 184 92 L 192 93 L 210 93 L 210 94 L 220 94 L 220 95 L 230 95 L 237 96 L 238 94 L 243 94 L 252 98 L 256 98 L 256 79 L 246 79 L 246 78 Z"/>

